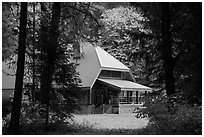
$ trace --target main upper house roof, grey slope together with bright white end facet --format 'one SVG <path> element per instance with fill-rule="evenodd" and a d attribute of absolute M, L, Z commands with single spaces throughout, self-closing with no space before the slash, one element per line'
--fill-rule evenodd
<path fill-rule="evenodd" d="M 79 72 L 79 77 L 82 80 L 82 87 L 91 88 L 101 70 L 115 70 L 129 72 L 129 68 L 116 58 L 111 56 L 99 46 L 94 46 L 89 42 L 81 42 L 82 57 L 77 60 L 79 64 L 76 71 Z M 76 62 L 76 59 L 72 59 Z"/>

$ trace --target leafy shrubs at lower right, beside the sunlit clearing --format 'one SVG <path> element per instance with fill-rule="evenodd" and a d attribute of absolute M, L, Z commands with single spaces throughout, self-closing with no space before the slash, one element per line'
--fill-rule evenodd
<path fill-rule="evenodd" d="M 202 108 L 188 104 L 176 104 L 176 112 L 168 112 L 167 97 L 154 96 L 140 111 L 150 117 L 149 125 L 141 134 L 200 135 L 202 134 Z"/>

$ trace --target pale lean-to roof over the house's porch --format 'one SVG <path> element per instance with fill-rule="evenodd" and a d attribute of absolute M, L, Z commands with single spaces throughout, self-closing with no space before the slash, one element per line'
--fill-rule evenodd
<path fill-rule="evenodd" d="M 147 91 L 147 92 L 152 91 L 151 88 L 132 81 L 101 78 L 98 78 L 98 80 L 110 86 L 119 88 L 120 90 Z"/>

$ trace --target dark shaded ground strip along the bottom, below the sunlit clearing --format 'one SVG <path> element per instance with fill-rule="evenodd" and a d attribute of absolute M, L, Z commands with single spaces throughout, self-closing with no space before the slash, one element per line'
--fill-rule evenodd
<path fill-rule="evenodd" d="M 87 122 L 78 124 L 52 123 L 44 128 L 44 123 L 22 125 L 21 135 L 137 135 L 143 129 L 97 129 Z M 4 129 L 5 131 L 5 129 Z M 3 132 L 3 135 L 6 132 Z"/>

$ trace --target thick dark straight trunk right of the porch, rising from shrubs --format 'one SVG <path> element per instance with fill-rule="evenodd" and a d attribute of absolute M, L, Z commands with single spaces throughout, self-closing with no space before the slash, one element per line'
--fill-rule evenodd
<path fill-rule="evenodd" d="M 174 106 L 174 98 L 171 96 L 175 93 L 175 83 L 173 76 L 173 59 L 172 59 L 172 45 L 170 33 L 170 17 L 169 17 L 169 3 L 162 3 L 162 42 L 163 42 L 163 58 L 164 58 L 164 74 L 166 93 L 168 98 L 168 110 L 174 113 L 176 107 Z"/>

